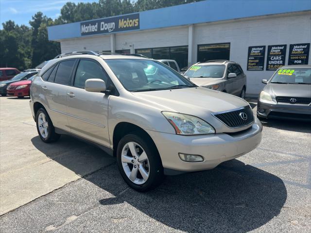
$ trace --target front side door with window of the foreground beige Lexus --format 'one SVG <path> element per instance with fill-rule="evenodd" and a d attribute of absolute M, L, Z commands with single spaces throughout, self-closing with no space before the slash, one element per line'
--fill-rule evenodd
<path fill-rule="evenodd" d="M 106 147 L 110 146 L 108 134 L 109 95 L 87 92 L 87 79 L 102 79 L 108 86 L 104 68 L 92 59 L 80 59 L 74 75 L 73 86 L 67 92 L 70 131 Z"/>

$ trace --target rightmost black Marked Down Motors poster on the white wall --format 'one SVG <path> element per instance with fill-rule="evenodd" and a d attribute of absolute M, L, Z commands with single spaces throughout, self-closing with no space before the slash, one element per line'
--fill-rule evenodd
<path fill-rule="evenodd" d="M 290 45 L 288 65 L 307 65 L 309 61 L 310 43 Z"/>

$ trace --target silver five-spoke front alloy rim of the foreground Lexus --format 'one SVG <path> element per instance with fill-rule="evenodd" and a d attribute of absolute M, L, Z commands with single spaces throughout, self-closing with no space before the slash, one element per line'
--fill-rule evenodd
<path fill-rule="evenodd" d="M 121 152 L 121 163 L 126 176 L 136 184 L 146 183 L 149 177 L 149 160 L 136 142 L 126 143 Z"/>

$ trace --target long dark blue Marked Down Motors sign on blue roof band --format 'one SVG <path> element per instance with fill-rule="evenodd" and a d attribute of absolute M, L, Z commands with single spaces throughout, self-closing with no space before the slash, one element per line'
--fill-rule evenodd
<path fill-rule="evenodd" d="M 139 29 L 139 13 L 80 23 L 81 35 L 115 33 Z"/>

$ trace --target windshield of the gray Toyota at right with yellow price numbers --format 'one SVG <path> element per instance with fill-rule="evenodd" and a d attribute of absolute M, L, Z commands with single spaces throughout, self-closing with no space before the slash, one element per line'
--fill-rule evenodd
<path fill-rule="evenodd" d="M 279 69 L 270 83 L 311 84 L 311 68 Z"/>

